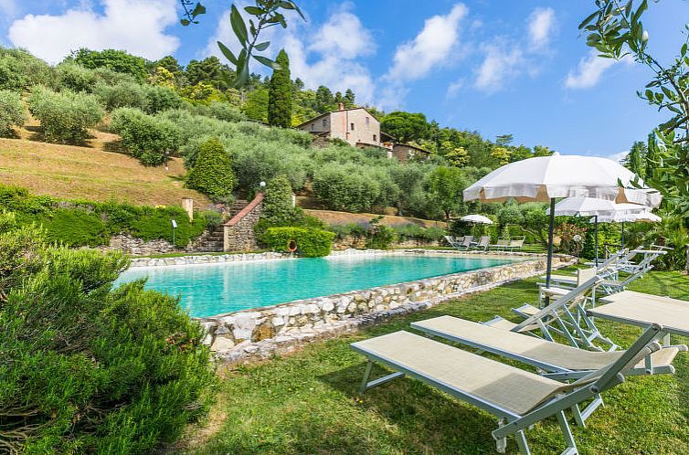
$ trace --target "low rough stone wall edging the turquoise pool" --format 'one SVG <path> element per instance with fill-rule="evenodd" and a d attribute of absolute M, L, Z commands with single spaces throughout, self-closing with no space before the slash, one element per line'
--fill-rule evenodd
<path fill-rule="evenodd" d="M 428 250 L 408 250 L 406 253 L 466 254 L 454 251 L 431 252 Z M 270 255 L 263 259 L 277 259 L 277 257 L 272 256 L 277 253 L 260 254 Z M 399 251 L 347 250 L 338 252 L 338 254 L 405 253 Z M 270 358 L 274 354 L 289 353 L 302 344 L 313 340 L 353 332 L 359 327 L 385 321 L 397 314 L 416 312 L 467 293 L 486 291 L 509 281 L 530 278 L 542 274 L 546 270 L 544 255 L 530 253 L 482 254 L 518 256 L 521 260 L 488 269 L 454 273 L 364 291 L 349 291 L 342 294 L 281 303 L 270 307 L 198 318 L 198 321 L 204 325 L 207 331 L 204 343 L 210 345 L 217 359 L 226 365 L 253 362 Z M 201 260 L 198 257 L 189 258 L 196 258 L 190 259 L 195 261 Z M 217 258 L 217 256 L 211 258 Z M 576 260 L 570 256 L 556 255 L 553 259 L 553 265 L 555 268 L 564 267 L 575 263 Z M 182 261 L 179 261 L 179 258 L 175 260 L 176 264 L 180 262 Z"/>

